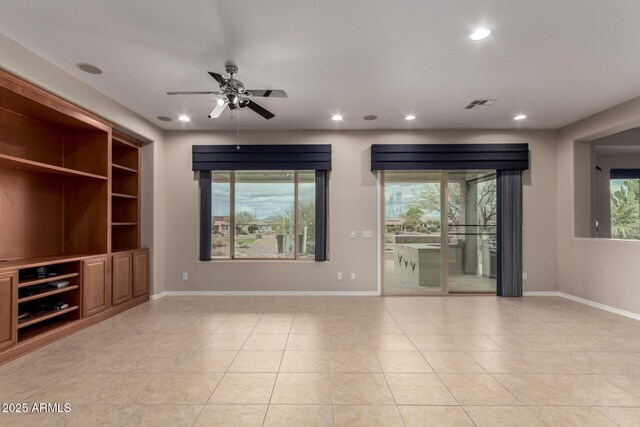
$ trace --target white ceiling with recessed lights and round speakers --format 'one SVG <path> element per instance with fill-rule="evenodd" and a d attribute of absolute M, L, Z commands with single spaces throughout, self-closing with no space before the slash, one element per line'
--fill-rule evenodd
<path fill-rule="evenodd" d="M 212 96 L 165 94 L 216 90 L 206 71 L 227 61 L 247 88 L 289 94 L 256 99 L 276 117 L 242 110 L 241 129 L 558 128 L 640 95 L 637 0 L 0 0 L 0 11 L 6 36 L 164 129 L 236 128 L 237 114 L 206 117 Z M 472 42 L 480 25 L 493 34 Z M 499 101 L 464 109 L 477 98 Z"/>

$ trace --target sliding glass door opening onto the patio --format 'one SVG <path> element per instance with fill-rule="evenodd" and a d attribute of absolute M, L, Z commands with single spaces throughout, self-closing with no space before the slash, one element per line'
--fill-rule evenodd
<path fill-rule="evenodd" d="M 384 172 L 385 294 L 495 293 L 495 177 Z"/>

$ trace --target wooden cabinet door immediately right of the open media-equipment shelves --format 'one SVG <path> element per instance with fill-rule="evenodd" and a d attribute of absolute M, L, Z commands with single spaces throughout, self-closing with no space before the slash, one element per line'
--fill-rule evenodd
<path fill-rule="evenodd" d="M 82 261 L 82 317 L 107 308 L 107 258 Z"/>

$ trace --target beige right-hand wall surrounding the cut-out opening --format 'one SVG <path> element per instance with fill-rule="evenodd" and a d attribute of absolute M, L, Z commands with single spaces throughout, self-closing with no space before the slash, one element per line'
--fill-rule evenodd
<path fill-rule="evenodd" d="M 640 314 L 640 241 L 590 235 L 592 141 L 640 125 L 640 98 L 560 130 L 558 256 L 560 291 Z M 585 219 L 586 218 L 586 219 Z"/>

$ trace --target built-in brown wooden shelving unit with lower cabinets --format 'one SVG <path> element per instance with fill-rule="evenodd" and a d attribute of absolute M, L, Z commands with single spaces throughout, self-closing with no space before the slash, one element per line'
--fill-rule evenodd
<path fill-rule="evenodd" d="M 140 150 L 0 70 L 0 363 L 148 300 Z"/>

